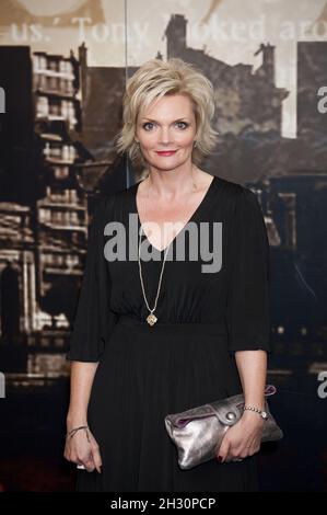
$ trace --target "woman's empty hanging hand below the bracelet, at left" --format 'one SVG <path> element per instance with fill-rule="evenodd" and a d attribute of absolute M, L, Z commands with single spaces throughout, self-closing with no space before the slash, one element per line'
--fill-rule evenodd
<path fill-rule="evenodd" d="M 96 469 L 101 473 L 102 459 L 98 445 L 89 428 L 79 430 L 73 436 L 67 436 L 63 456 L 68 461 L 83 465 L 87 472 Z"/>

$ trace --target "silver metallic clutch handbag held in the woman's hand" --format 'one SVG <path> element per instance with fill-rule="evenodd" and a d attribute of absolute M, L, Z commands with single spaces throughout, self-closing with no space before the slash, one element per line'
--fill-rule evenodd
<path fill-rule="evenodd" d="M 273 385 L 267 385 L 265 397 L 272 396 L 276 391 Z M 244 396 L 240 393 L 166 415 L 166 431 L 177 447 L 179 467 L 183 470 L 191 469 L 214 458 L 226 431 L 243 415 L 243 407 Z M 265 411 L 267 417 L 262 426 L 261 443 L 282 438 L 283 433 L 271 415 L 266 399 Z"/>

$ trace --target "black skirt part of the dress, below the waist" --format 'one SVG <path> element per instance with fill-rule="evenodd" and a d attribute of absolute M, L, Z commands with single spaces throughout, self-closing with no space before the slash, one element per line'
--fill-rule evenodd
<path fill-rule="evenodd" d="M 160 323 L 121 316 L 98 364 L 89 425 L 102 473 L 79 470 L 81 492 L 258 491 L 257 457 L 183 470 L 168 413 L 242 392 L 223 323 Z"/>

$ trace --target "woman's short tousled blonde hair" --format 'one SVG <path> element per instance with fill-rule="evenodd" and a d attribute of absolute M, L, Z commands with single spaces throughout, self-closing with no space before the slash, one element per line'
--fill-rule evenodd
<path fill-rule="evenodd" d="M 207 77 L 194 65 L 179 58 L 166 61 L 150 59 L 128 79 L 122 98 L 124 125 L 116 136 L 118 153 L 128 152 L 136 165 L 145 165 L 141 150 L 135 140 L 138 115 L 152 101 L 166 94 L 185 94 L 192 104 L 197 124 L 197 146 L 192 161 L 200 164 L 215 146 L 218 131 L 211 125 L 214 115 L 214 90 Z"/>

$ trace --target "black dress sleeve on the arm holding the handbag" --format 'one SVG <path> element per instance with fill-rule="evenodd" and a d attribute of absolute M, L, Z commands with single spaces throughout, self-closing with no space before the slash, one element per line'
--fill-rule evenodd
<path fill-rule="evenodd" d="M 229 352 L 264 350 L 270 344 L 270 250 L 260 204 L 243 187 L 231 233 L 233 260 L 227 291 Z"/>

